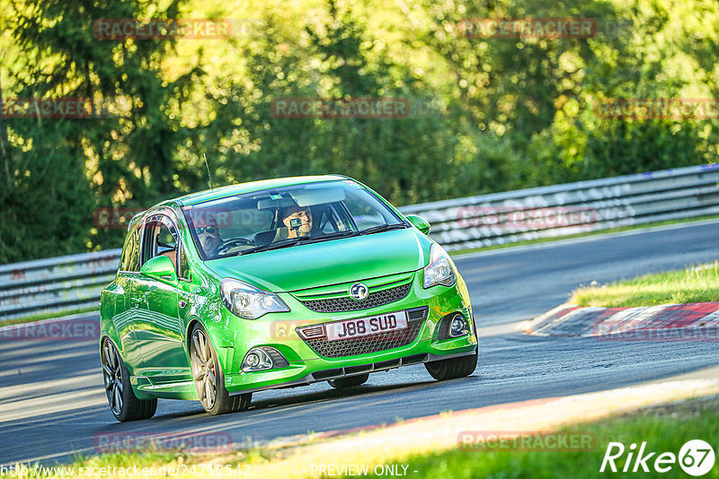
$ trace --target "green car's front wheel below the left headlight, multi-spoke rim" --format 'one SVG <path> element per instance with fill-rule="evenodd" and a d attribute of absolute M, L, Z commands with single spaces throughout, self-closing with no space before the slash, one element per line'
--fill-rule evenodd
<path fill-rule="evenodd" d="M 208 414 L 235 413 L 250 406 L 252 393 L 230 396 L 227 392 L 225 373 L 217 359 L 215 346 L 200 323 L 190 335 L 190 366 L 200 404 Z"/>

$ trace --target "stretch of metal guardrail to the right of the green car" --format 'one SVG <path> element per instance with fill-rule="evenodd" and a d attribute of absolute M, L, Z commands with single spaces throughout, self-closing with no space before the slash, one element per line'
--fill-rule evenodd
<path fill-rule="evenodd" d="M 410 205 L 448 251 L 719 213 L 719 163 Z"/>

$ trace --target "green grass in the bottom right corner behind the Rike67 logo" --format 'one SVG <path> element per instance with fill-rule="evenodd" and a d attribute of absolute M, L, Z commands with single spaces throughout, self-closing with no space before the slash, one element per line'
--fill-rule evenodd
<path fill-rule="evenodd" d="M 653 471 L 653 460 L 662 452 L 679 455 L 679 449 L 688 440 L 706 440 L 716 451 L 716 446 L 719 444 L 717 414 L 719 414 L 719 399 L 714 397 L 708 400 L 661 406 L 626 417 L 573 427 L 571 431 L 586 431 L 595 435 L 595 449 L 590 452 L 540 450 L 487 452 L 480 449 L 452 449 L 429 456 L 410 457 L 397 461 L 397 464 L 408 465 L 407 475 L 416 479 L 657 477 L 660 474 Z M 615 463 L 617 471 L 621 471 L 625 465 L 629 445 L 633 442 L 640 445 L 642 441 L 647 442 L 644 454 L 657 452 L 647 461 L 650 473 L 612 474 L 608 470 L 599 473 L 609 442 L 621 442 L 626 447 L 623 457 L 617 459 Z M 633 466 L 634 464 L 629 467 L 629 471 Z M 661 474 L 661 477 L 691 476 L 685 474 L 679 464 L 674 464 L 670 472 Z M 719 477 L 719 465 L 715 465 L 702 477 Z"/>

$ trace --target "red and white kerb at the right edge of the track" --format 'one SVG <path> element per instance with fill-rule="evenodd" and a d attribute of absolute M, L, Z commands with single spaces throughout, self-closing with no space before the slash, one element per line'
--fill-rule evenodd
<path fill-rule="evenodd" d="M 641 308 L 581 308 L 565 303 L 526 321 L 528 335 L 607 339 L 719 340 L 719 302 Z"/>

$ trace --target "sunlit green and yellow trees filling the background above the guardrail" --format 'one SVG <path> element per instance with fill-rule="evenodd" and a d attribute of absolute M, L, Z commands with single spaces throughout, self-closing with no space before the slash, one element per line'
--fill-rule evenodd
<path fill-rule="evenodd" d="M 589 39 L 467 38 L 467 18 L 597 19 Z M 227 39 L 97 39 L 102 18 L 235 19 Z M 608 98 L 717 98 L 711 0 L 13 0 L 0 86 L 106 118 L 0 118 L 0 263 L 120 245 L 96 208 L 341 173 L 399 205 L 716 161 L 715 119 L 600 118 Z M 285 98 L 394 98 L 407 118 L 281 118 Z"/>

